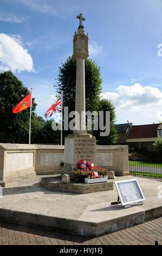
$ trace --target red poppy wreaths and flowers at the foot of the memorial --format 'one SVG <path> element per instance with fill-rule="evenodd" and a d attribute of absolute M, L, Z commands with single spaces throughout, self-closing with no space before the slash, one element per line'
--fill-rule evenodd
<path fill-rule="evenodd" d="M 108 176 L 108 170 L 95 166 L 87 160 L 80 160 L 77 168 L 72 170 L 71 179 L 76 182 L 84 182 L 87 179 L 98 179 Z"/>

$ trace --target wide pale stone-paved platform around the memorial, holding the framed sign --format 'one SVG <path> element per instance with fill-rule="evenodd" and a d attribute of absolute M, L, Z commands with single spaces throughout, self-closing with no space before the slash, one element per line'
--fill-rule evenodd
<path fill-rule="evenodd" d="M 133 179 L 133 176 L 116 180 Z M 132 227 L 162 216 L 162 199 L 158 198 L 160 180 L 138 178 L 146 197 L 143 205 L 124 209 L 115 190 L 88 194 L 48 191 L 40 185 L 40 176 L 28 176 L 6 184 L 0 199 L 0 218 L 19 224 L 70 233 L 98 236 Z"/>

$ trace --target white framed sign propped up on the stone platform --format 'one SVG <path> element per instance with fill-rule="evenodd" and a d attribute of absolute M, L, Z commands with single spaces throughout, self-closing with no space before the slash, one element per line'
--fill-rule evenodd
<path fill-rule="evenodd" d="M 145 197 L 137 179 L 115 181 L 115 186 L 121 205 L 125 208 L 133 203 L 143 204 Z"/>

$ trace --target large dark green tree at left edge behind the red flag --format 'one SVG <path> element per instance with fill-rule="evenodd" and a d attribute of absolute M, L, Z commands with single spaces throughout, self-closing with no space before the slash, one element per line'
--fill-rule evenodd
<path fill-rule="evenodd" d="M 12 108 L 29 93 L 28 88 L 11 71 L 5 71 L 0 74 L 0 92 L 0 141 L 28 143 L 30 109 L 12 113 Z M 33 99 L 33 111 L 35 108 Z M 34 113 L 32 117 L 35 117 Z"/>

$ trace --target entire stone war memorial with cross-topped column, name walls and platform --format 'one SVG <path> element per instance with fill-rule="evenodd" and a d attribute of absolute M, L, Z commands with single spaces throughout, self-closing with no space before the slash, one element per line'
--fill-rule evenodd
<path fill-rule="evenodd" d="M 162 206 L 157 198 L 160 181 L 138 178 L 145 196 L 144 204 L 134 203 L 128 209 L 121 204 L 112 205 L 118 198 L 114 182 L 135 177 L 129 175 L 127 145 L 96 145 L 95 137 L 87 133 L 85 60 L 89 56 L 88 34 L 83 30 L 85 18 L 81 14 L 77 18 L 80 24 L 73 39 L 73 58 L 77 65 L 75 111 L 79 113 L 75 123 L 79 129 L 67 136 L 64 146 L 0 144 L 0 185 L 4 187 L 0 218 L 99 236 L 161 216 Z M 70 180 L 80 160 L 83 164 L 88 161 L 108 170 L 108 180 L 90 184 Z M 113 172 L 115 177 L 111 176 Z M 135 202 L 135 194 L 126 197 Z"/>

